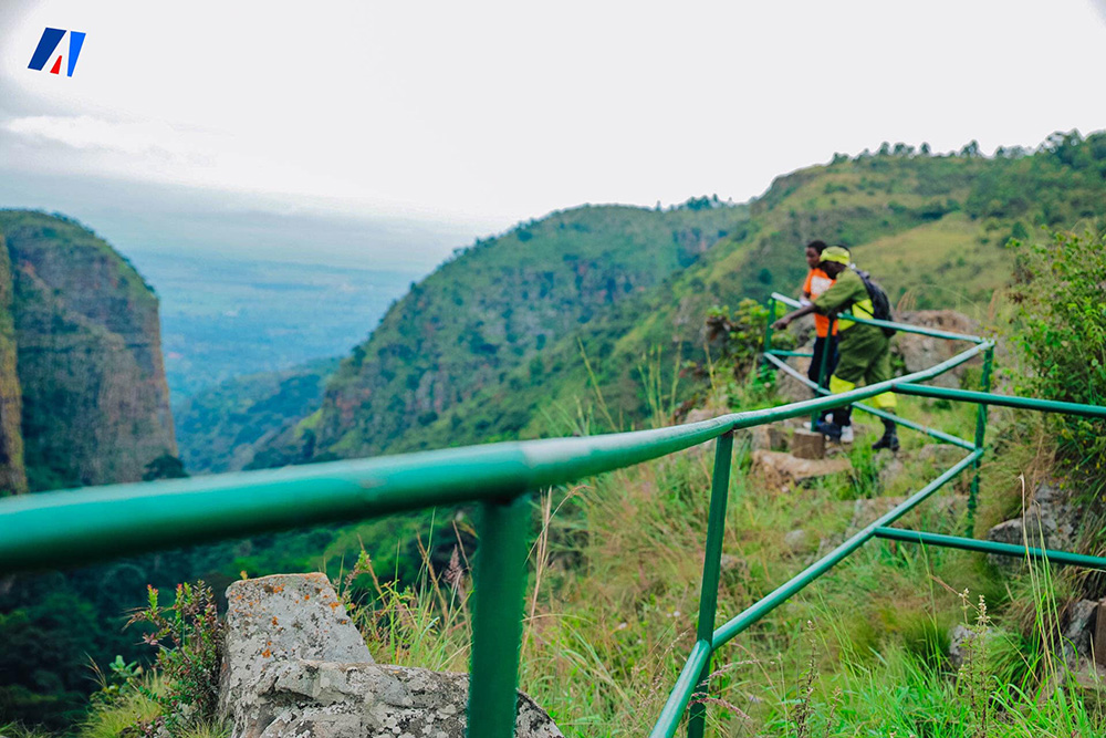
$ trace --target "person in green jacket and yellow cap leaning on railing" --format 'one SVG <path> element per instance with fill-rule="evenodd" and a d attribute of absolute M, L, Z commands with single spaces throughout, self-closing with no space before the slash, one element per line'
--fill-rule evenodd
<path fill-rule="evenodd" d="M 864 280 L 849 268 L 849 253 L 839 246 L 831 246 L 822 251 L 821 267 L 831 279 L 833 285 L 820 294 L 814 301 L 799 310 L 789 313 L 773 323 L 773 328 L 783 330 L 796 318 L 816 312 L 820 315 L 837 315 L 837 341 L 841 358 L 830 377 L 830 392 L 842 393 L 856 388 L 863 380 L 865 384 L 876 384 L 891 378 L 890 340 L 876 325 L 856 323 L 846 315 L 873 318 L 875 312 Z M 885 392 L 872 398 L 876 407 L 893 412 L 895 394 Z M 849 443 L 853 440 L 853 408 L 838 407 L 833 412 L 832 422 L 820 422 L 817 429 L 832 440 Z M 899 448 L 898 434 L 894 420 L 884 420 L 884 435 L 872 448 Z"/>

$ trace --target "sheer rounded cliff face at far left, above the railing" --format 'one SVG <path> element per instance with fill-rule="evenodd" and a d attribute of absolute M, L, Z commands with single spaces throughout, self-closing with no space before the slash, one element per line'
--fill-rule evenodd
<path fill-rule="evenodd" d="M 140 479 L 150 460 L 176 454 L 153 290 L 106 242 L 64 218 L 0 211 L 0 233 L 10 264 L 0 299 L 7 290 L 18 377 L 13 394 L 0 321 L 2 437 L 22 441 L 25 486 Z M 15 434 L 8 410 L 20 402 Z M 18 480 L 8 456 L 0 480 Z"/>

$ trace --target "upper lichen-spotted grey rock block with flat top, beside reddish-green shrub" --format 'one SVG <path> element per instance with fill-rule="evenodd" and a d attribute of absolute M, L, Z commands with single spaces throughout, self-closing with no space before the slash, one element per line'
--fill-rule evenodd
<path fill-rule="evenodd" d="M 227 588 L 227 638 L 219 710 L 232 715 L 259 692 L 275 662 L 373 663 L 324 574 L 273 574 Z M 237 718 L 236 718 L 237 723 Z"/>

